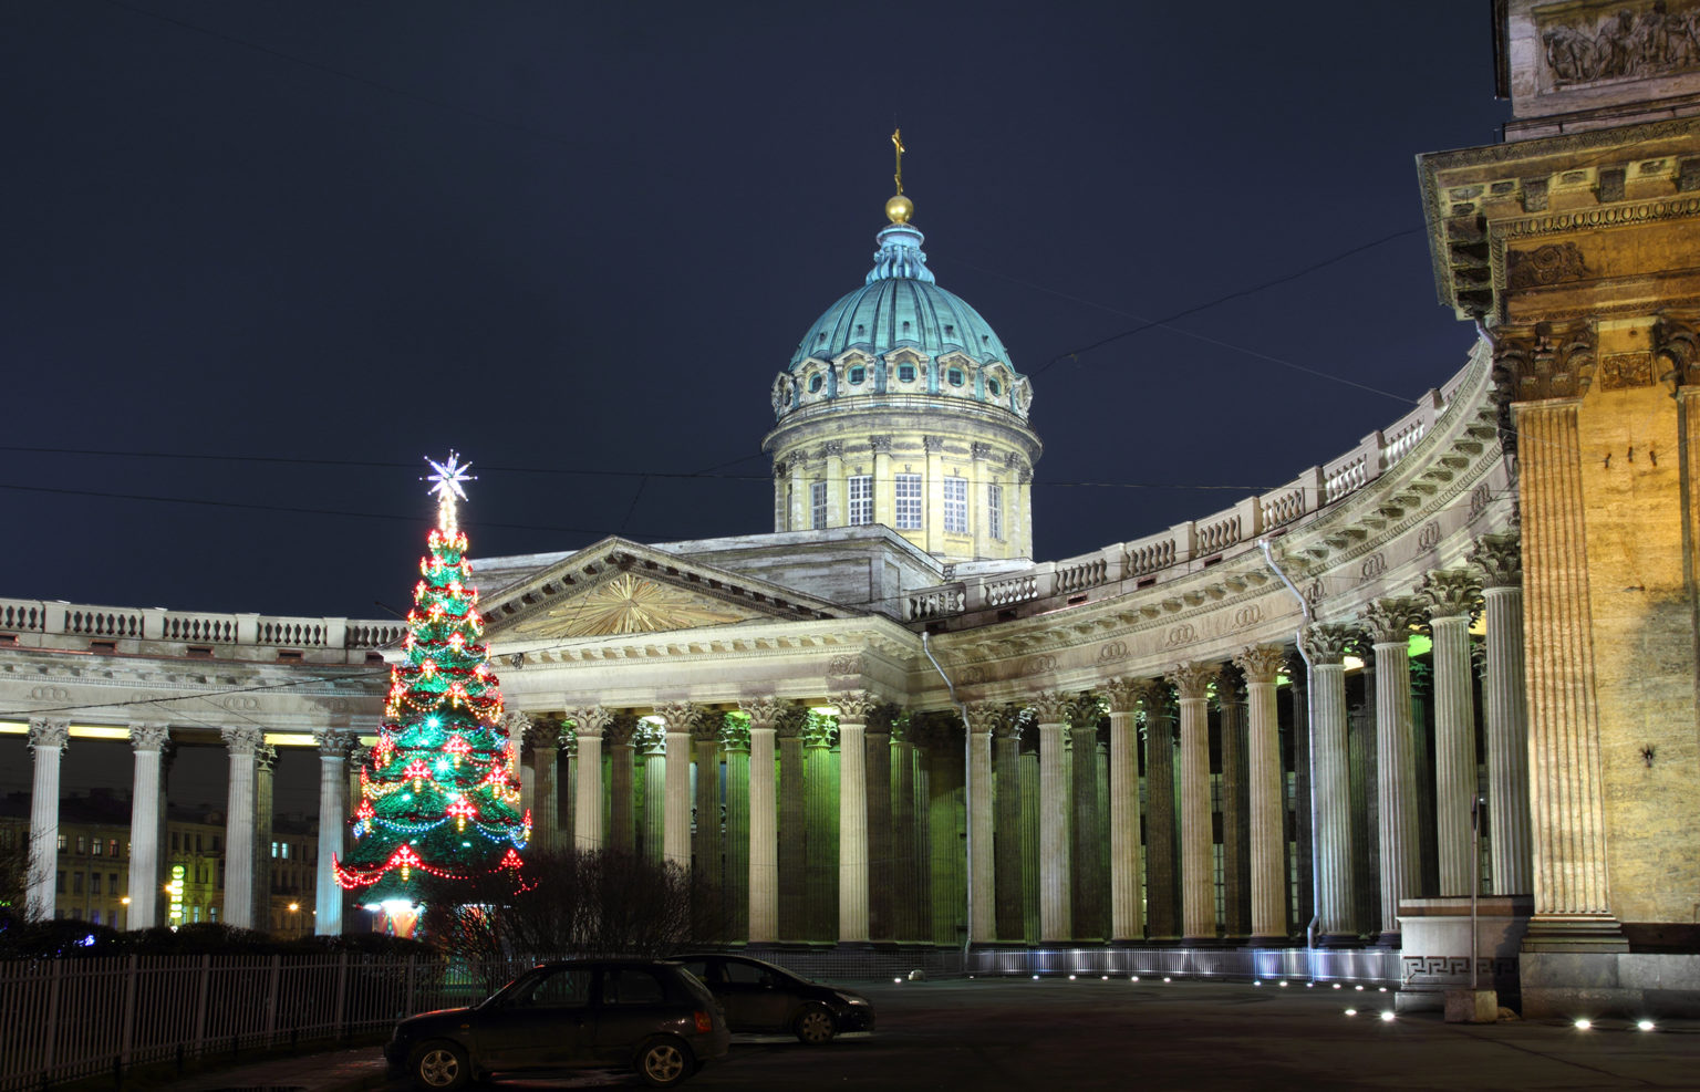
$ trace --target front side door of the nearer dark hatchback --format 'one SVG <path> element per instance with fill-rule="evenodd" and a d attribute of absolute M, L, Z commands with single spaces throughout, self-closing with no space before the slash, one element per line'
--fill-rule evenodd
<path fill-rule="evenodd" d="M 483 1068 L 530 1070 L 585 1060 L 595 1027 L 590 1007 L 593 970 L 564 966 L 534 975 L 498 1005 L 479 1010 Z"/>

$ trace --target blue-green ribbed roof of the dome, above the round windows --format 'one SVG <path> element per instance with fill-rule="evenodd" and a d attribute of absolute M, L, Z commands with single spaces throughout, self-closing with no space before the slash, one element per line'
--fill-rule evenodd
<path fill-rule="evenodd" d="M 848 350 L 884 357 L 896 348 L 913 348 L 933 358 L 960 352 L 974 363 L 1010 363 L 1003 341 L 986 319 L 933 282 L 921 238 L 910 224 L 891 224 L 881 231 L 867 282 L 809 326 L 790 357 L 789 370 L 796 372 L 804 360 L 833 360 Z"/>

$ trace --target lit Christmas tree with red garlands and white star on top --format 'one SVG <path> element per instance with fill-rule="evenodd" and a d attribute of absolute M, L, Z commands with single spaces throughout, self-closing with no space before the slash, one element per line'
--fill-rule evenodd
<path fill-rule="evenodd" d="M 502 690 L 456 521 L 471 464 L 454 452 L 427 462 L 437 526 L 420 559 L 406 659 L 389 671 L 384 723 L 360 768 L 354 846 L 335 863 L 337 881 L 367 903 L 452 898 L 457 883 L 503 870 L 518 883 L 530 836 L 530 815 L 518 813 L 518 740 L 502 725 Z"/>

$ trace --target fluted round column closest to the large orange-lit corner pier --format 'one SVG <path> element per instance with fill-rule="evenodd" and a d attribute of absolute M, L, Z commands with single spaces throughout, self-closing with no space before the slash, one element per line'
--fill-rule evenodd
<path fill-rule="evenodd" d="M 1494 895 L 1535 888 L 1528 832 L 1528 708 L 1523 695 L 1523 555 L 1516 532 L 1482 535 L 1470 560 L 1488 601 L 1488 829 Z"/>

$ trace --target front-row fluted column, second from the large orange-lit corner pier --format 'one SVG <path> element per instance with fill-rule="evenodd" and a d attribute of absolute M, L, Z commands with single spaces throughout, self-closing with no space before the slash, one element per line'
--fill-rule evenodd
<path fill-rule="evenodd" d="M 1470 608 L 1479 594 L 1476 574 L 1467 569 L 1423 576 L 1421 596 L 1435 632 L 1435 853 L 1442 895 L 1469 895 L 1477 885 L 1470 846 L 1477 785 Z"/>

